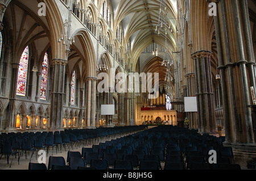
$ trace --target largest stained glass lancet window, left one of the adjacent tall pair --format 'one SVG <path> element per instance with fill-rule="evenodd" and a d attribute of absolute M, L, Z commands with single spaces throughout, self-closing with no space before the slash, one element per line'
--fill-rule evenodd
<path fill-rule="evenodd" d="M 29 49 L 24 49 L 19 61 L 18 81 L 16 94 L 25 96 L 27 87 L 27 68 L 28 68 Z"/>

